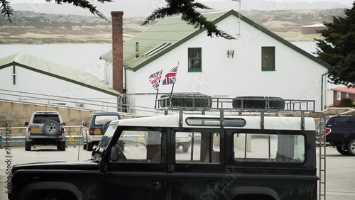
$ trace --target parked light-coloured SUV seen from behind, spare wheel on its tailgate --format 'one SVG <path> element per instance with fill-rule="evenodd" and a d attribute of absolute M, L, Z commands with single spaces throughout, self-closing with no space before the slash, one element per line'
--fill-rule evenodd
<path fill-rule="evenodd" d="M 65 150 L 65 122 L 57 111 L 35 111 L 25 126 L 26 151 L 33 145 L 57 145 L 58 150 Z"/>

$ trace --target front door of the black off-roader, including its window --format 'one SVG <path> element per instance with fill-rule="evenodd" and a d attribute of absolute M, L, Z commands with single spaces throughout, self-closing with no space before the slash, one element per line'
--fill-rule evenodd
<path fill-rule="evenodd" d="M 118 158 L 112 159 L 113 156 L 110 156 L 107 163 L 104 199 L 165 199 L 165 131 L 132 127 L 119 129 L 119 135 L 125 135 L 125 148 L 124 151 L 119 148 Z M 113 140 L 116 143 L 114 148 L 119 147 L 118 138 Z"/>

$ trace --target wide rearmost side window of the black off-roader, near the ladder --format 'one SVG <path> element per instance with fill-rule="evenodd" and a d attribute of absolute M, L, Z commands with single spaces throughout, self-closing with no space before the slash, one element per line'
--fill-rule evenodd
<path fill-rule="evenodd" d="M 303 135 L 234 133 L 234 160 L 239 162 L 304 162 Z"/>

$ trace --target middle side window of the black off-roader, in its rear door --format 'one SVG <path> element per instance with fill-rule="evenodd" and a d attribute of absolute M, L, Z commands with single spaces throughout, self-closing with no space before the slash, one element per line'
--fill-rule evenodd
<path fill-rule="evenodd" d="M 219 133 L 176 132 L 175 161 L 177 163 L 219 164 Z"/>

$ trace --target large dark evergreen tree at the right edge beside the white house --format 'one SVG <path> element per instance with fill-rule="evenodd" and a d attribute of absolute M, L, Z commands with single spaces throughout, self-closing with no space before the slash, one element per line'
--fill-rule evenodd
<path fill-rule="evenodd" d="M 355 87 L 355 1 L 344 13 L 324 23 L 327 29 L 320 31 L 324 39 L 317 40 L 317 55 L 329 63 L 332 83 Z"/>

